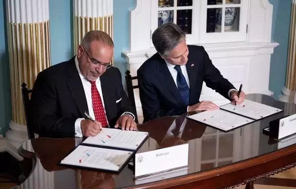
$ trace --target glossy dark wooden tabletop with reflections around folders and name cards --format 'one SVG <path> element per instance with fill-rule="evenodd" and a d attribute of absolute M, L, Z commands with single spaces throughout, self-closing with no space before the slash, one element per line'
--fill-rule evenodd
<path fill-rule="evenodd" d="M 223 132 L 182 116 L 164 117 L 139 125 L 149 138 L 137 153 L 157 150 L 180 144 L 189 144 L 188 169 L 137 181 L 134 172 L 125 166 L 119 174 L 72 167 L 58 166 L 79 142 L 78 138 L 28 140 L 22 145 L 23 152 L 36 159 L 32 175 L 21 186 L 24 189 L 108 189 L 125 188 L 155 182 L 167 178 L 210 170 L 248 158 L 274 152 L 296 143 L 296 138 L 278 143 L 262 133 L 269 122 L 296 113 L 296 105 L 274 100 L 266 95 L 247 95 L 247 99 L 271 105 L 284 111 L 263 120 Z"/>

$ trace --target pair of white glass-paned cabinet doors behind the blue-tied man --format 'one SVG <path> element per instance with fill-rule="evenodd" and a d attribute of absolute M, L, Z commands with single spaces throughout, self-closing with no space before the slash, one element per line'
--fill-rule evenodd
<path fill-rule="evenodd" d="M 151 33 L 174 22 L 188 44 L 246 41 L 248 8 L 249 0 L 151 0 Z"/>

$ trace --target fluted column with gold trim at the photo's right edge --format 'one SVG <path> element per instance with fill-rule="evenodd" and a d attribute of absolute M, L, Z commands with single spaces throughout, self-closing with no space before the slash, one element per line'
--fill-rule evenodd
<path fill-rule="evenodd" d="M 279 100 L 296 102 L 296 0 L 292 0 L 286 83 Z"/>

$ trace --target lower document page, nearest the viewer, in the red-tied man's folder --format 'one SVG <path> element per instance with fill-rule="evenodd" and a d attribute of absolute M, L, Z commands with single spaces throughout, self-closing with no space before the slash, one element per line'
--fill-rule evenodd
<path fill-rule="evenodd" d="M 132 152 L 79 145 L 62 164 L 118 171 Z"/>

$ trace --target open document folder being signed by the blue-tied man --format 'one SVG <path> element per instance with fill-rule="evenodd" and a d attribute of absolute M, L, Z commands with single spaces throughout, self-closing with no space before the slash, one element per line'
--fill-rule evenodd
<path fill-rule="evenodd" d="M 187 118 L 229 131 L 281 111 L 283 110 L 245 99 L 242 104 L 236 106 L 229 103 L 220 106 L 219 110 L 208 110 Z"/>

